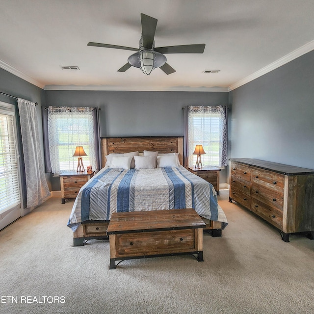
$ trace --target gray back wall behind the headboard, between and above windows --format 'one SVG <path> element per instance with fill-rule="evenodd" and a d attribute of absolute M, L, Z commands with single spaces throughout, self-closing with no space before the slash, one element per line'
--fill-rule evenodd
<path fill-rule="evenodd" d="M 183 135 L 183 106 L 228 105 L 228 93 L 47 90 L 45 105 L 99 106 L 101 136 Z M 226 176 L 221 171 L 221 183 Z M 58 178 L 51 181 L 60 189 Z"/>

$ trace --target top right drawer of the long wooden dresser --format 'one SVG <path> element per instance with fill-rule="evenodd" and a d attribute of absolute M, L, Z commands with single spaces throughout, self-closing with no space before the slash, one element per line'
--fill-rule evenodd
<path fill-rule="evenodd" d="M 284 194 L 285 176 L 267 170 L 252 169 L 252 183 Z"/>

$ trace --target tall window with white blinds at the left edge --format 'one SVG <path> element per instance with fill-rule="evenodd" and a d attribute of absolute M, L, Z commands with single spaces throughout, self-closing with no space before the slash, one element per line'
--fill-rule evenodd
<path fill-rule="evenodd" d="M 19 154 L 15 132 L 14 105 L 0 102 L 0 215 L 4 216 L 4 212 L 14 209 L 17 216 L 13 217 L 11 213 L 12 221 L 21 216 Z M 4 227 L 1 223 L 0 226 L 0 229 Z"/>

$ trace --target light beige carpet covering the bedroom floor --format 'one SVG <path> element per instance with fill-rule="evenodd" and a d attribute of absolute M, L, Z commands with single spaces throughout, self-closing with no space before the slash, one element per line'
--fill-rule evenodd
<path fill-rule="evenodd" d="M 313 314 L 314 240 L 285 243 L 228 193 L 218 200 L 229 225 L 222 237 L 204 233 L 204 262 L 148 258 L 114 270 L 109 242 L 73 247 L 73 200 L 49 199 L 0 232 L 0 313 Z"/>

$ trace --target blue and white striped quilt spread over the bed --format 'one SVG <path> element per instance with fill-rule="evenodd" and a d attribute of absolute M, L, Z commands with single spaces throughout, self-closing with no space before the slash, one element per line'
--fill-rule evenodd
<path fill-rule="evenodd" d="M 80 189 L 68 227 L 86 220 L 110 220 L 113 212 L 193 208 L 228 224 L 212 184 L 183 166 L 157 169 L 103 168 Z"/>

